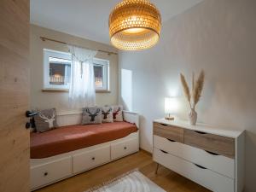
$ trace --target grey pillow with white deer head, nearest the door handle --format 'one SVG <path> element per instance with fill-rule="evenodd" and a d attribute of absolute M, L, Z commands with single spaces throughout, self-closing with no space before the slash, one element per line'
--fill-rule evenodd
<path fill-rule="evenodd" d="M 58 127 L 55 108 L 38 111 L 34 120 L 38 132 L 45 132 Z"/>

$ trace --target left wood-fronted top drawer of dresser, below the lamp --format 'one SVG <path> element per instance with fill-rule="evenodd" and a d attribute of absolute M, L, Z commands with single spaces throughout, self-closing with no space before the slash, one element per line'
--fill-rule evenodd
<path fill-rule="evenodd" d="M 154 135 L 183 143 L 183 128 L 154 122 Z"/>

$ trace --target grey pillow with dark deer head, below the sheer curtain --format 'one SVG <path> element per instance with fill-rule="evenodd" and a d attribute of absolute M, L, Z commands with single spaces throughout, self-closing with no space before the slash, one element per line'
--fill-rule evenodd
<path fill-rule="evenodd" d="M 102 124 L 102 108 L 83 108 L 82 125 Z"/>

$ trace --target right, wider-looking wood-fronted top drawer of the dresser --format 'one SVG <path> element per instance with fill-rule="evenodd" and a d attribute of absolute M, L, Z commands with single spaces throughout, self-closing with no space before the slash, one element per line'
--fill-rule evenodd
<path fill-rule="evenodd" d="M 201 131 L 184 130 L 184 143 L 206 151 L 235 158 L 235 139 Z"/>

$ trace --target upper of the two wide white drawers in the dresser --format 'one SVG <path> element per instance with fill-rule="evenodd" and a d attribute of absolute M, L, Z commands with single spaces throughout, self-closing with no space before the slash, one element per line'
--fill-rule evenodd
<path fill-rule="evenodd" d="M 164 137 L 154 136 L 154 148 L 158 148 L 174 154 L 184 160 L 189 160 L 195 164 L 205 166 L 213 172 L 218 172 L 224 176 L 235 177 L 235 160 L 208 153 L 207 151 L 191 147 L 189 145 L 177 142 L 171 142 Z"/>

